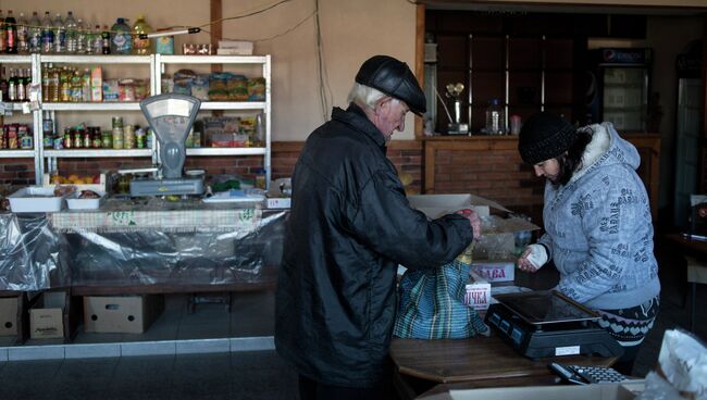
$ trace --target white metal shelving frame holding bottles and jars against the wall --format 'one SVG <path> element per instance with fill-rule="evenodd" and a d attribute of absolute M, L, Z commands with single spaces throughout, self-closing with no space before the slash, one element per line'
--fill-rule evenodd
<path fill-rule="evenodd" d="M 0 64 L 28 64 L 32 66 L 32 79 L 34 83 L 41 82 L 41 70 L 44 64 L 88 64 L 88 65 L 113 65 L 113 64 L 144 64 L 149 66 L 150 95 L 161 93 L 161 77 L 169 64 L 230 64 L 230 65 L 255 65 L 260 66 L 262 77 L 265 79 L 265 101 L 202 101 L 201 110 L 204 111 L 247 111 L 262 112 L 265 124 L 264 147 L 241 147 L 241 148 L 187 148 L 187 155 L 193 157 L 215 157 L 215 155 L 262 155 L 263 168 L 266 174 L 266 182 L 271 179 L 271 58 L 270 55 L 0 55 Z M 21 111 L 21 103 L 11 104 L 13 111 Z M 152 158 L 158 162 L 157 149 L 45 149 L 42 120 L 45 115 L 54 121 L 57 126 L 57 113 L 76 112 L 134 112 L 140 111 L 138 102 L 45 102 L 40 108 L 33 110 L 33 133 L 34 150 L 0 150 L 1 159 L 10 158 L 34 158 L 35 178 L 41 184 L 45 171 L 52 171 L 57 160 L 60 158 L 115 158 L 115 157 L 139 157 Z M 156 143 L 156 146 L 159 146 Z"/>

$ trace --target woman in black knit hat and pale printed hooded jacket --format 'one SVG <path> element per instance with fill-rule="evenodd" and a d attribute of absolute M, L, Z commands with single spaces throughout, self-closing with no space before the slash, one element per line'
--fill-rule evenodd
<path fill-rule="evenodd" d="M 518 149 L 547 179 L 545 234 L 523 251 L 519 268 L 535 272 L 553 260 L 556 289 L 601 315 L 624 350 L 615 368 L 631 374 L 660 293 L 638 152 L 611 123 L 576 128 L 546 112 L 525 122 Z"/>

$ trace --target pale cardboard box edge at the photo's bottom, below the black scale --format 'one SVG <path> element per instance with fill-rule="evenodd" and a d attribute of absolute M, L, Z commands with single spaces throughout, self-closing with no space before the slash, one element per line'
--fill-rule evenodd
<path fill-rule="evenodd" d="M 524 386 L 449 390 L 421 396 L 425 400 L 631 400 L 642 392 L 644 380 L 620 384 Z"/>

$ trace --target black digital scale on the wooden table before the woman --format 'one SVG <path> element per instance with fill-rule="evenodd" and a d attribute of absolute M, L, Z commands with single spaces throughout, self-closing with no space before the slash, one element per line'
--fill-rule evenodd
<path fill-rule="evenodd" d="M 555 290 L 496 295 L 485 322 L 530 359 L 599 354 L 621 357 L 623 349 L 594 311 Z"/>

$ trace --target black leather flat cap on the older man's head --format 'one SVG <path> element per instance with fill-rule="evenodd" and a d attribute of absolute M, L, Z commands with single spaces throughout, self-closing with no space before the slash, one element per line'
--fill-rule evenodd
<path fill-rule="evenodd" d="M 418 115 L 427 110 L 424 92 L 408 64 L 388 55 L 373 55 L 356 74 L 356 82 L 405 101 Z"/>

